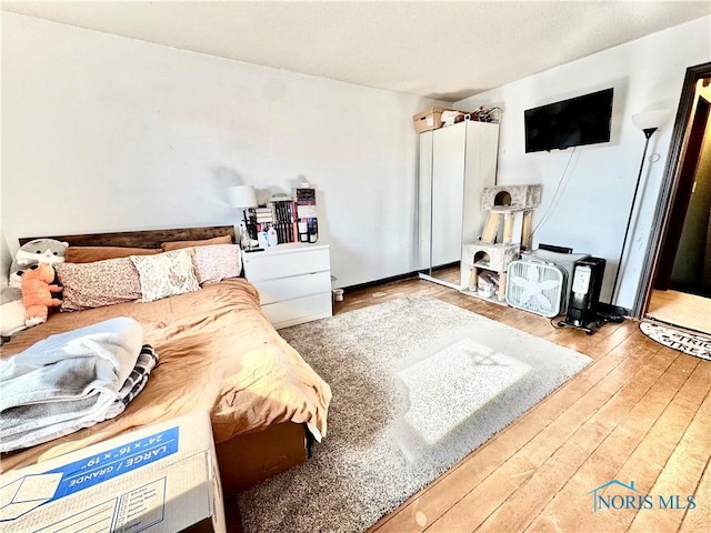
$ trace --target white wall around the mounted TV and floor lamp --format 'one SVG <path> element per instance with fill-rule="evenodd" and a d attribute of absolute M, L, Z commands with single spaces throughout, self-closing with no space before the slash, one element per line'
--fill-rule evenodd
<path fill-rule="evenodd" d="M 633 233 L 628 238 L 615 301 L 628 309 L 639 284 L 685 70 L 711 61 L 710 28 L 711 19 L 704 17 L 457 103 L 462 110 L 503 109 L 498 183 L 543 184 L 533 220 L 534 227 L 540 224 L 534 245 L 571 247 L 607 259 L 603 301 L 610 300 L 644 147 L 644 135 L 630 117 L 671 110 L 669 123 L 650 141 Z M 578 147 L 574 152 L 524 153 L 524 110 L 610 87 L 614 88 L 611 142 Z"/>

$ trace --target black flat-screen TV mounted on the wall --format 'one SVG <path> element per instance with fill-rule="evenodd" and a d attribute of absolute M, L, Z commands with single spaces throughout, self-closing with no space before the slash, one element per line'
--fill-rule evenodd
<path fill-rule="evenodd" d="M 524 111 L 525 152 L 610 141 L 612 88 Z"/>

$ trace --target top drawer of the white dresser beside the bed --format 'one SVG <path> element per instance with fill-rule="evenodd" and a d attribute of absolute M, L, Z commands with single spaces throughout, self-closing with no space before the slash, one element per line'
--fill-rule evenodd
<path fill-rule="evenodd" d="M 243 255 L 244 274 L 252 283 L 261 280 L 288 278 L 331 269 L 328 247 L 283 248 Z"/>

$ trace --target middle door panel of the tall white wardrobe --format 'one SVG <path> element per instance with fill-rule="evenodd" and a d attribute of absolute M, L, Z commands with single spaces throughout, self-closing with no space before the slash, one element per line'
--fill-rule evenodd
<path fill-rule="evenodd" d="M 461 259 L 467 122 L 434 131 L 432 147 L 432 266 Z"/>

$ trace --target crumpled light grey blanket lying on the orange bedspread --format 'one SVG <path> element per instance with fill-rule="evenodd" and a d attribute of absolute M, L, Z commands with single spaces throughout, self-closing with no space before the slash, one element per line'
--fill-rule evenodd
<path fill-rule="evenodd" d="M 117 318 L 51 335 L 0 361 L 0 452 L 107 420 L 141 352 L 143 331 Z"/>

